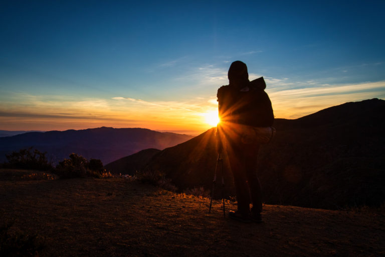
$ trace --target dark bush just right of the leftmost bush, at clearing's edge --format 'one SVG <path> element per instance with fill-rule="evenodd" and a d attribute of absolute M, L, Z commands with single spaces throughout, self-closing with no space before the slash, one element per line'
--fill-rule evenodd
<path fill-rule="evenodd" d="M 72 153 L 70 159 L 64 159 L 56 166 L 55 173 L 61 178 L 111 177 L 111 173 L 103 169 L 103 163 L 98 159 L 88 161 L 81 155 Z"/>

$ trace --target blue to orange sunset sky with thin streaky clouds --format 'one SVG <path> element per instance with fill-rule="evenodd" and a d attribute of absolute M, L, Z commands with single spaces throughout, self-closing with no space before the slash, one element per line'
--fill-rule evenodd
<path fill-rule="evenodd" d="M 233 61 L 276 118 L 385 99 L 385 1 L 1 1 L 0 130 L 213 125 Z"/>

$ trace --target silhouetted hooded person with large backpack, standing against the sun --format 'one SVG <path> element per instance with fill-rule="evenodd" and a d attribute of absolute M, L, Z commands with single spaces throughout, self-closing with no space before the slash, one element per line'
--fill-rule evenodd
<path fill-rule="evenodd" d="M 237 194 L 238 210 L 230 211 L 229 217 L 261 222 L 261 185 L 256 171 L 260 143 L 257 143 L 257 137 L 259 129 L 270 129 L 273 125 L 273 109 L 264 91 L 263 77 L 250 82 L 245 63 L 233 62 L 228 78 L 229 85 L 222 86 L 217 93 L 221 117 L 217 139 L 218 153 L 226 146 Z"/>

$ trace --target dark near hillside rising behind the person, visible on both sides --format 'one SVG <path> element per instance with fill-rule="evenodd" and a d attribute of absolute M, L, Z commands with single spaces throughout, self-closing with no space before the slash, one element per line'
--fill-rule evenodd
<path fill-rule="evenodd" d="M 385 199 L 385 101 L 348 102 L 298 119 L 276 119 L 258 172 L 269 204 L 337 209 L 379 206 Z M 142 151 L 106 167 L 157 170 L 179 189 L 211 189 L 217 160 L 215 129 L 160 152 Z M 225 156 L 225 163 L 227 158 Z M 112 168 L 112 167 L 115 168 Z M 228 165 L 226 194 L 235 195 Z M 220 190 L 218 190 L 220 191 Z"/>

